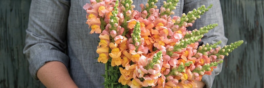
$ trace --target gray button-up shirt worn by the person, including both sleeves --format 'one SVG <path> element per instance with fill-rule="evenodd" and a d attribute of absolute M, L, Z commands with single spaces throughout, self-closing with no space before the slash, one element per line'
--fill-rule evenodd
<path fill-rule="evenodd" d="M 135 10 L 140 11 L 140 3 L 147 0 L 133 0 Z M 29 62 L 30 74 L 38 79 L 36 73 L 45 62 L 60 61 L 65 64 L 69 74 L 80 88 L 96 88 L 104 82 L 100 74 L 104 74 L 104 64 L 97 62 L 95 57 L 99 34 L 89 34 L 90 28 L 86 22 L 86 11 L 82 8 L 89 0 L 32 0 L 28 28 L 26 30 L 26 46 L 24 54 Z M 200 44 L 213 44 L 222 40 L 224 46 L 227 38 L 224 36 L 224 24 L 219 0 L 180 0 L 175 15 L 181 16 L 201 5 L 213 7 L 201 15 L 189 30 L 218 23 L 219 26 L 205 34 Z M 155 5 L 161 7 L 163 0 Z M 66 52 L 67 51 L 67 52 Z M 215 75 L 222 70 L 222 64 L 214 69 L 212 75 L 204 75 L 202 81 L 207 88 L 212 86 Z"/>

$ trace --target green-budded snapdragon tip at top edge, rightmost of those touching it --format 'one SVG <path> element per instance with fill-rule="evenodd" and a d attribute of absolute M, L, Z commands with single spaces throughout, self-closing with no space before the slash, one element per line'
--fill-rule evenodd
<path fill-rule="evenodd" d="M 165 8 L 165 11 L 161 12 L 160 15 L 171 15 L 171 14 L 174 14 L 174 12 L 172 11 L 173 9 L 176 9 L 176 5 L 177 3 L 179 2 L 179 0 L 167 0 L 166 1 L 163 1 L 163 5 L 162 7 Z"/>

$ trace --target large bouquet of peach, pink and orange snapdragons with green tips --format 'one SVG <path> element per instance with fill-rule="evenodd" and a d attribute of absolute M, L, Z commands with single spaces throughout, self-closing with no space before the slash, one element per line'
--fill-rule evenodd
<path fill-rule="evenodd" d="M 132 0 L 90 0 L 84 5 L 90 34 L 100 34 L 97 63 L 105 64 L 106 88 L 197 87 L 194 80 L 210 75 L 228 52 L 243 43 L 221 48 L 218 41 L 198 47 L 203 34 L 218 24 L 193 31 L 186 27 L 212 5 L 170 17 L 178 0 L 164 1 L 160 9 L 154 5 L 157 1 L 141 4 L 141 12 L 133 10 Z"/>

